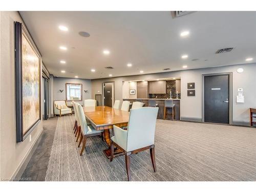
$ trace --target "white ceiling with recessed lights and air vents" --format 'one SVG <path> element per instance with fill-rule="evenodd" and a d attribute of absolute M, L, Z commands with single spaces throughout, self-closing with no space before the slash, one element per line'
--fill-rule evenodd
<path fill-rule="evenodd" d="M 177 18 L 166 11 L 20 14 L 46 67 L 59 77 L 95 79 L 109 74 L 136 75 L 140 70 L 147 74 L 165 72 L 164 68 L 183 70 L 183 65 L 196 69 L 256 60 L 256 12 L 195 12 Z M 69 31 L 60 31 L 59 25 L 67 26 Z M 184 30 L 190 32 L 186 38 L 180 37 Z M 91 36 L 81 37 L 80 31 Z M 68 50 L 59 50 L 62 45 Z M 227 47 L 234 49 L 215 54 Z M 104 49 L 111 54 L 103 55 Z M 183 54 L 188 58 L 181 59 Z M 248 57 L 254 61 L 245 61 Z M 195 58 L 199 60 L 191 61 Z M 66 60 L 66 65 L 61 65 L 60 60 Z M 132 68 L 126 66 L 128 62 L 133 63 Z M 114 69 L 104 69 L 108 66 Z"/>

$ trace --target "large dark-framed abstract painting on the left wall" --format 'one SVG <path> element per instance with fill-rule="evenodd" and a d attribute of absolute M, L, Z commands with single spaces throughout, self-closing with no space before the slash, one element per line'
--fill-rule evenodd
<path fill-rule="evenodd" d="M 16 142 L 22 142 L 41 120 L 41 60 L 22 23 L 14 25 Z"/>

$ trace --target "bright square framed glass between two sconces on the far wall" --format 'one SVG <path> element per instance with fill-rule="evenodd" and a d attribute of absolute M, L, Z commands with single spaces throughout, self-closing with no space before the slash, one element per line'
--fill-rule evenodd
<path fill-rule="evenodd" d="M 81 101 L 82 100 L 82 84 L 66 83 L 66 100 Z"/>

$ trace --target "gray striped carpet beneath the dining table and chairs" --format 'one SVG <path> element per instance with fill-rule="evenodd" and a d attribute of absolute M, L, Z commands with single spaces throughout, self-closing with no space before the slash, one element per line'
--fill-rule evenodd
<path fill-rule="evenodd" d="M 73 115 L 58 118 L 46 181 L 126 181 L 124 156 L 110 162 L 98 136 L 80 156 L 73 126 Z M 149 151 L 134 154 L 132 181 L 255 181 L 255 138 L 255 128 L 157 120 L 157 173 Z"/>

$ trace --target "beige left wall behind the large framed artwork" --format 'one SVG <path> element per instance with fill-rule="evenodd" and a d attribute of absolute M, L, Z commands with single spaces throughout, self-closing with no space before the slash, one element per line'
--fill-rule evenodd
<path fill-rule="evenodd" d="M 24 22 L 16 11 L 0 12 L 0 19 L 0 178 L 8 180 L 28 157 L 42 132 L 42 121 L 31 132 L 31 142 L 27 137 L 16 143 L 14 21 Z"/>

